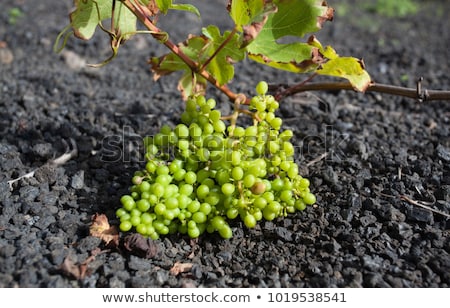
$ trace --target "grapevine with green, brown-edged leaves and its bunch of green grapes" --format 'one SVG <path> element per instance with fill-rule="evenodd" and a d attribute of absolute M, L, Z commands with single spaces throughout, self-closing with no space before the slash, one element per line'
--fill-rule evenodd
<path fill-rule="evenodd" d="M 133 178 L 129 193 L 116 210 L 120 230 L 134 230 L 157 239 L 181 233 L 191 238 L 218 232 L 232 237 L 231 221 L 254 228 L 261 220 L 274 220 L 303 211 L 316 202 L 310 182 L 299 174 L 294 161 L 294 135 L 283 129 L 276 115 L 286 93 L 269 94 L 265 81 L 247 98 L 229 87 L 234 64 L 248 58 L 295 74 L 311 73 L 347 79 L 351 88 L 365 91 L 371 85 L 360 59 L 341 57 L 323 46 L 312 33 L 333 19 L 334 10 L 322 0 L 230 0 L 226 11 L 234 22 L 221 31 L 215 25 L 189 34 L 176 44 L 159 28 L 159 18 L 171 10 L 200 16 L 191 4 L 172 0 L 76 0 L 70 25 L 58 36 L 61 50 L 71 33 L 90 40 L 100 29 L 110 37 L 112 55 L 137 34 L 148 34 L 169 53 L 148 63 L 155 80 L 181 71 L 178 88 L 185 111 L 175 127 L 164 125 L 145 137 L 146 165 Z M 109 21 L 109 27 L 105 24 Z M 144 29 L 138 29 L 140 23 Z M 306 41 L 282 43 L 285 37 Z M 59 44 L 62 42 L 62 44 Z M 62 45 L 62 46 L 60 46 Z M 213 98 L 206 98 L 210 84 L 234 104 L 231 115 L 222 115 Z M 287 95 L 287 94 L 286 94 Z M 245 121 L 245 120 L 247 121 Z"/>

